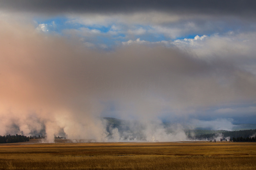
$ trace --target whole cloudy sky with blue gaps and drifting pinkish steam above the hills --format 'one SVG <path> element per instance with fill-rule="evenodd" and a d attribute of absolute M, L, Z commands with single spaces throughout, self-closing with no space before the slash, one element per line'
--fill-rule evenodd
<path fill-rule="evenodd" d="M 99 117 L 215 130 L 255 123 L 255 8 L 0 0 L 0 134 L 104 141 Z"/>

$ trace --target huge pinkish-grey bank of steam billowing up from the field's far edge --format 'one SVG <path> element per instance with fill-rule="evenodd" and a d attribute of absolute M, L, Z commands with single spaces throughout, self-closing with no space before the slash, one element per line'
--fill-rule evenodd
<path fill-rule="evenodd" d="M 185 117 L 190 109 L 256 97 L 255 76 L 220 59 L 138 44 L 93 51 L 32 26 L 0 25 L 0 134 L 44 134 L 49 142 L 60 134 L 96 141 L 186 140 L 180 128 L 168 131 L 157 117 Z M 109 113 L 140 123 L 130 131 L 113 128 L 109 137 L 99 118 Z"/>

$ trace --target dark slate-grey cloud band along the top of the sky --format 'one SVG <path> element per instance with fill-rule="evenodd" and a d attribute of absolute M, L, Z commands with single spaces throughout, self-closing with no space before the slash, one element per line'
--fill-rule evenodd
<path fill-rule="evenodd" d="M 256 14 L 255 7 L 255 0 L 0 0 L 2 10 L 42 13 L 165 11 L 253 17 Z"/>

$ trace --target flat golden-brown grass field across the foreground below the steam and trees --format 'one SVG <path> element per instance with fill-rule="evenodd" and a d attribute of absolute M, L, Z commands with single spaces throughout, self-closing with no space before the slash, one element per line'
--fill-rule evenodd
<path fill-rule="evenodd" d="M 256 143 L 32 143 L 0 145 L 1 170 L 256 170 Z"/>

